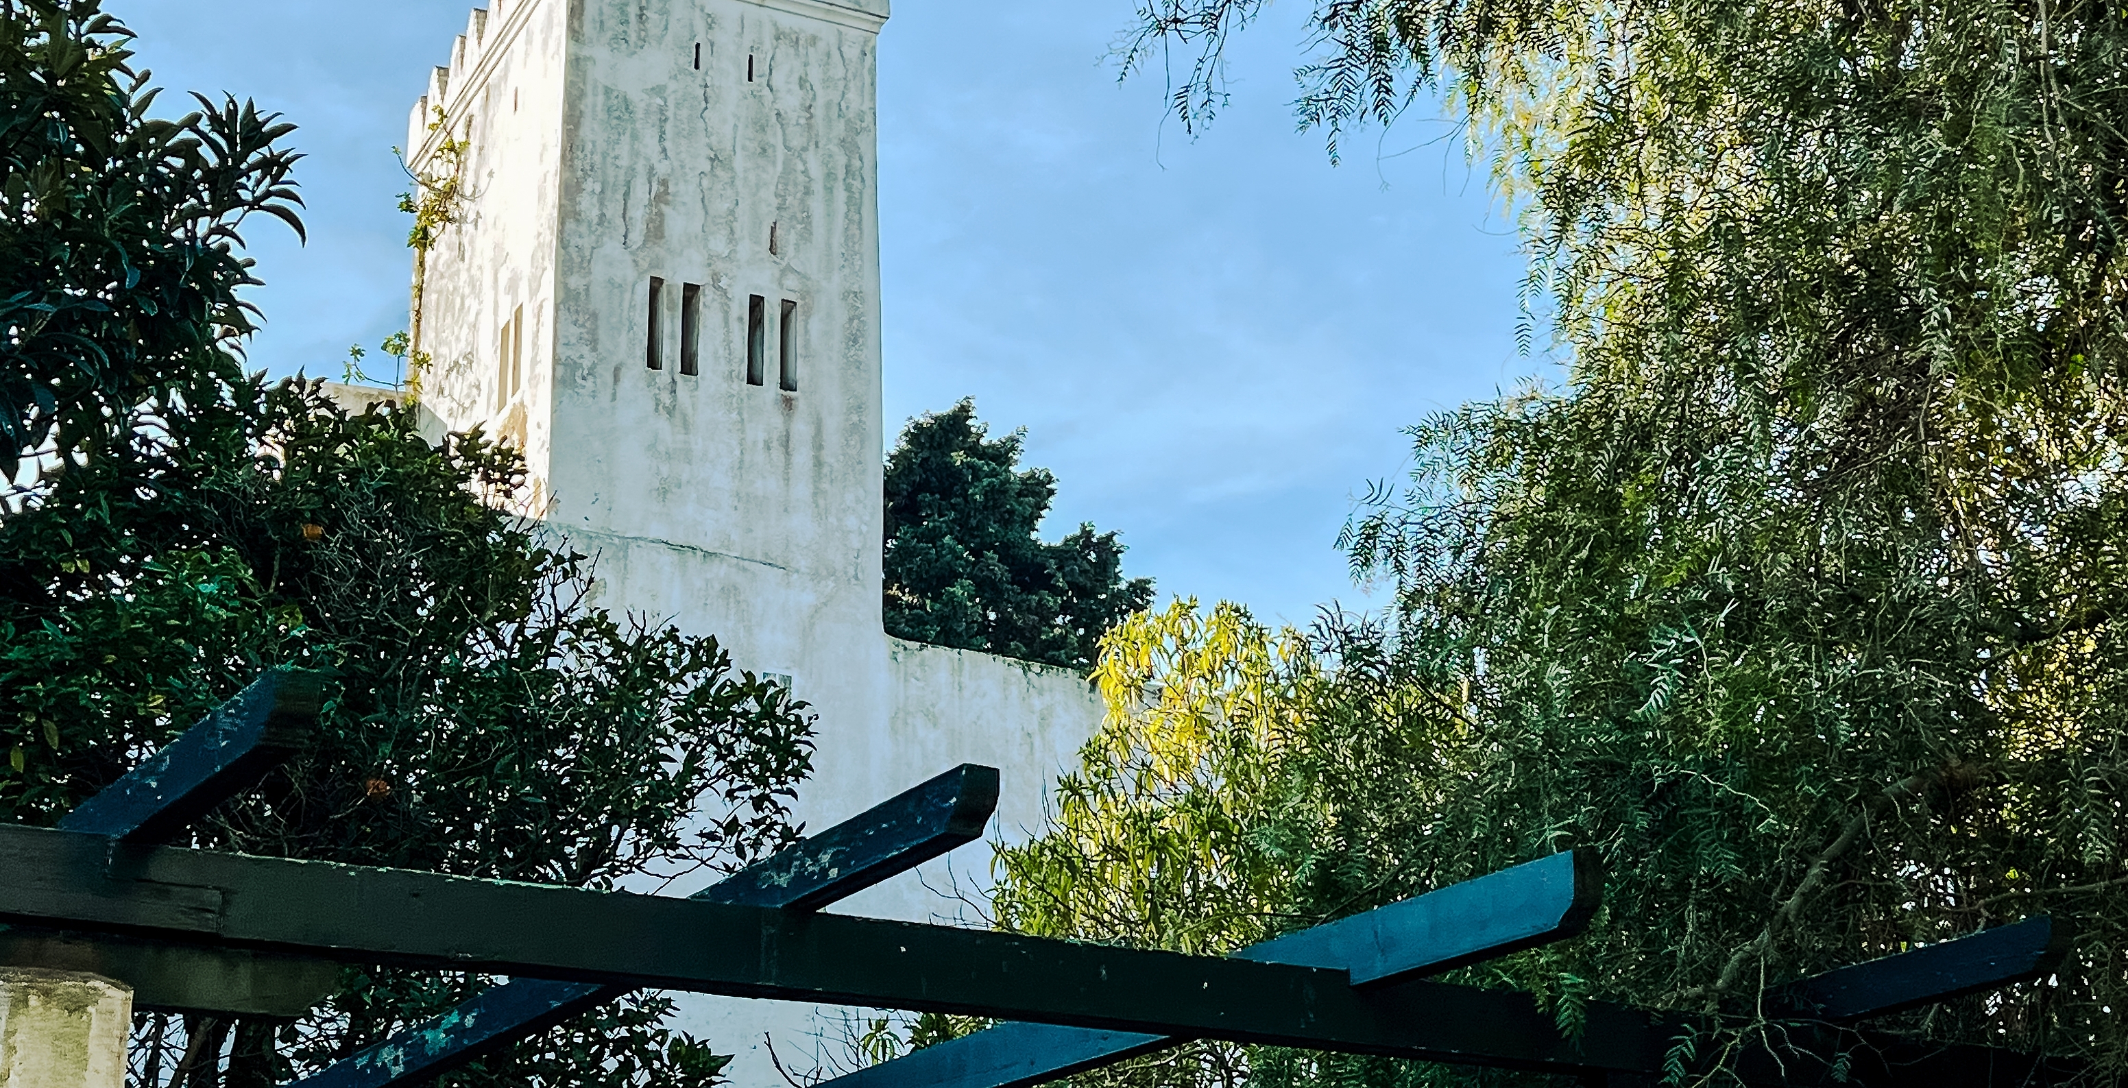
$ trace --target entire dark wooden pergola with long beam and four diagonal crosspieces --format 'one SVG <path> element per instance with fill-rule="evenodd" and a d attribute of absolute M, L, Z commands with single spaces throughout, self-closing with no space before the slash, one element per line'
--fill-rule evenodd
<path fill-rule="evenodd" d="M 275 671 L 68 813 L 0 826 L 0 962 L 87 969 L 151 1009 L 300 1016 L 336 965 L 509 975 L 304 1088 L 434 1077 L 636 988 L 1004 1020 L 826 1082 L 1017 1088 L 1194 1039 L 1528 1069 L 1592 1086 L 1664 1075 L 1724 1018 L 1592 1003 L 1566 1035 L 1532 994 L 1428 975 L 1575 937 L 1600 877 L 1562 852 L 1226 958 L 819 913 L 981 837 L 998 773 L 958 766 L 689 899 L 157 845 L 304 745 L 319 683 Z M 1745 1084 L 2007 1088 L 2075 1069 L 1871 1031 L 1877 1016 L 2043 977 L 2068 950 L 2039 916 L 1788 982 L 1777 1033 L 1728 1056 Z M 1766 1011 L 1770 1009 L 1770 1011 Z"/>

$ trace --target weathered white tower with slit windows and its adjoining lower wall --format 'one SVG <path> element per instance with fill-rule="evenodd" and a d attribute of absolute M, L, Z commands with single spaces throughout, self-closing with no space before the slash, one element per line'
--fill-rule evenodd
<path fill-rule="evenodd" d="M 819 713 L 813 828 L 958 762 L 1036 824 L 1098 724 L 1068 673 L 881 630 L 875 49 L 887 0 L 494 0 L 415 104 L 453 175 L 417 283 L 421 400 L 517 443 L 615 611 L 717 634 Z M 455 166 L 453 166 L 455 162 Z M 975 854 L 970 854 L 975 852 Z M 934 920 L 979 847 L 853 913 Z M 706 879 L 706 877 L 704 877 Z M 847 1062 L 838 1018 L 689 1003 L 741 1088 Z M 796 1069 L 794 1069 L 796 1067 Z"/>

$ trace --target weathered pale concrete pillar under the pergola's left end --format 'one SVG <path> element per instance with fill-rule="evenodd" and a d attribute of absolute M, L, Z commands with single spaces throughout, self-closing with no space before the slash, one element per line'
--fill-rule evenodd
<path fill-rule="evenodd" d="M 79 971 L 0 967 L 0 1088 L 126 1088 L 132 990 Z"/>

